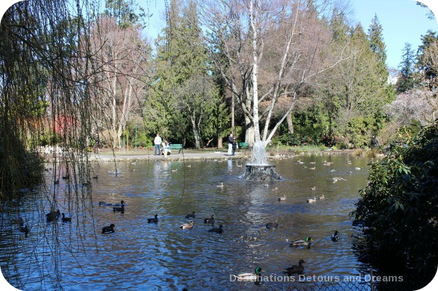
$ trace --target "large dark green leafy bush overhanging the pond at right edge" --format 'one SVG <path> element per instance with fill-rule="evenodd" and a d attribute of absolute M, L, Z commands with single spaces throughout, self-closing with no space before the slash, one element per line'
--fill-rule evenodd
<path fill-rule="evenodd" d="M 423 275 L 435 275 L 438 123 L 422 129 L 409 147 L 394 146 L 383 161 L 372 163 L 368 179 L 352 214 L 363 221 L 371 253 L 380 260 L 402 260 Z M 433 271 L 425 267 L 430 265 Z"/>

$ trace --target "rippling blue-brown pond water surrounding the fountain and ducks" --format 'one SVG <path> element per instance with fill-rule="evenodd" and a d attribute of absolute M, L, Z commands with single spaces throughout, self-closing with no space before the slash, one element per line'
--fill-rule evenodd
<path fill-rule="evenodd" d="M 332 163 L 324 165 L 324 161 Z M 60 210 L 73 217 L 72 223 L 46 223 L 41 215 L 27 216 L 31 230 L 41 225 L 45 233 L 61 240 L 60 248 L 53 251 L 42 243 L 49 241 L 42 232 L 32 231 L 28 238 L 21 234 L 15 259 L 18 270 L 8 270 L 2 263 L 3 275 L 11 283 L 20 277 L 20 287 L 25 290 L 52 289 L 55 281 L 66 290 L 277 290 L 297 285 L 277 279 L 255 286 L 231 281 L 230 275 L 260 266 L 262 275 L 283 276 L 282 271 L 300 259 L 306 262 L 307 276 L 342 280 L 359 276 L 367 268 L 355 255 L 350 236 L 357 230 L 348 213 L 355 209 L 358 191 L 366 184 L 368 158 L 306 155 L 270 161 L 283 180 L 268 182 L 268 186 L 238 179 L 247 162 L 124 161 L 117 163 L 118 176 L 108 174 L 115 171 L 114 162 L 96 163 L 99 180 L 92 180 L 94 223 L 90 213 L 75 217 L 78 214 L 68 213 L 68 209 Z M 334 177 L 346 180 L 334 183 Z M 217 186 L 220 182 L 223 187 Z M 66 187 L 64 180 L 59 187 Z M 283 195 L 287 199 L 279 202 Z M 308 198 L 320 195 L 325 199 L 307 203 Z M 103 200 L 124 200 L 125 212 L 99 206 Z M 179 225 L 187 222 L 185 215 L 192 211 L 196 212 L 194 227 L 181 230 Z M 159 222 L 146 223 L 155 213 Z M 211 225 L 203 223 L 212 213 L 215 226 L 224 227 L 222 234 L 208 232 Z M 80 234 L 75 227 L 78 221 L 86 226 Z M 266 228 L 266 223 L 275 221 L 278 228 Z M 101 227 L 111 223 L 116 232 L 100 234 Z M 334 243 L 330 236 L 335 230 L 341 238 Z M 307 236 L 313 239 L 312 247 L 289 247 L 289 241 Z M 8 234 L 3 234 L 1 241 L 1 261 L 8 262 L 3 248 Z M 62 271 L 62 277 L 47 271 L 52 269 Z M 294 278 L 298 281 L 298 276 Z M 311 288 L 313 283 L 300 282 L 296 288 Z"/>

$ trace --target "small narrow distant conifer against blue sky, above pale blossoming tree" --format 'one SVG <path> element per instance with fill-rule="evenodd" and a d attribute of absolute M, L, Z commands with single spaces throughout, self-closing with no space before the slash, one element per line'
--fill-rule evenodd
<path fill-rule="evenodd" d="M 407 92 L 415 87 L 414 68 L 415 55 L 408 42 L 404 44 L 402 61 L 400 62 L 400 77 L 396 83 L 398 93 Z"/>

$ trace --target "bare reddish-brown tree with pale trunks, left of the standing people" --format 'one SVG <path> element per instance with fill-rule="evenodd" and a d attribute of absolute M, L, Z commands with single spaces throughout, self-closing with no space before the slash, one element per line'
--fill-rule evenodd
<path fill-rule="evenodd" d="M 94 96 L 96 127 L 107 130 L 112 146 L 120 147 L 127 121 L 142 104 L 149 45 L 136 27 L 119 27 L 114 18 L 104 16 L 92 31 L 92 50 L 100 69 L 93 80 L 99 84 Z"/>

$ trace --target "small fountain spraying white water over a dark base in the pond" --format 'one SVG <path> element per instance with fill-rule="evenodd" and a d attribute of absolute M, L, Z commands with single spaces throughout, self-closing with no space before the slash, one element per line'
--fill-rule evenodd
<path fill-rule="evenodd" d="M 266 148 L 263 141 L 256 141 L 253 146 L 251 161 L 246 165 L 245 174 L 241 179 L 251 181 L 281 180 L 281 176 L 274 171 L 275 165 L 266 161 Z"/>

